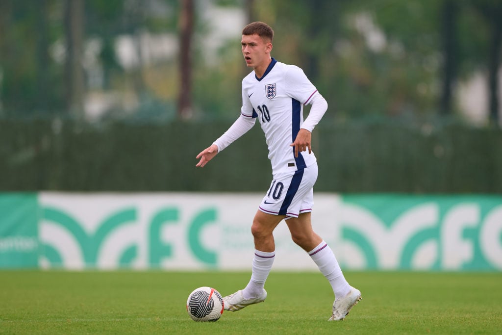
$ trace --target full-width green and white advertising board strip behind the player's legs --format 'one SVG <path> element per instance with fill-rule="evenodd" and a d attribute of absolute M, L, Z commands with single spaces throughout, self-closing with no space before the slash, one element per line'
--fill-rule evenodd
<path fill-rule="evenodd" d="M 240 201 L 0 193 L 0 268 L 235 269 L 253 247 Z M 315 221 L 344 268 L 502 270 L 502 196 L 328 195 L 318 203 Z M 287 230 L 277 233 L 279 245 L 295 248 L 290 258 L 304 255 Z"/>

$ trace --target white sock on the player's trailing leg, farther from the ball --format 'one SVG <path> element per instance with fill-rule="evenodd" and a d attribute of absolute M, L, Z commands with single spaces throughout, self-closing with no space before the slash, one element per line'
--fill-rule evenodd
<path fill-rule="evenodd" d="M 326 242 L 322 241 L 309 252 L 309 256 L 317 264 L 321 273 L 331 284 L 335 298 L 343 298 L 350 292 L 350 285 L 345 280 L 335 254 Z"/>

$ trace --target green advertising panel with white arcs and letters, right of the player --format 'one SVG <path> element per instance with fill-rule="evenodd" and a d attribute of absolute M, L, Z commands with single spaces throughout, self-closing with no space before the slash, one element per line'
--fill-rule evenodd
<path fill-rule="evenodd" d="M 342 240 L 368 269 L 502 269 L 502 198 L 346 195 Z M 420 260 L 420 261 L 417 261 Z"/>

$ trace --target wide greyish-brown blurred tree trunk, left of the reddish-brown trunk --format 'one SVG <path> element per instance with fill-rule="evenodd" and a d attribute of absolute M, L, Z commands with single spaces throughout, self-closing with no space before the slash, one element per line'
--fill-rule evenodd
<path fill-rule="evenodd" d="M 66 105 L 69 114 L 76 118 L 84 117 L 84 72 L 83 54 L 83 16 L 82 0 L 66 0 Z"/>

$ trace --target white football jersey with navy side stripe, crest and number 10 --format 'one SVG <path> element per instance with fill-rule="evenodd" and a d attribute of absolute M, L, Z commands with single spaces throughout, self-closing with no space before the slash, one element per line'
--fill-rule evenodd
<path fill-rule="evenodd" d="M 258 79 L 255 71 L 242 80 L 241 117 L 258 118 L 269 147 L 272 172 L 294 173 L 315 163 L 314 153 L 299 152 L 295 157 L 296 135 L 303 124 L 303 106 L 317 92 L 301 68 L 272 58 Z"/>

